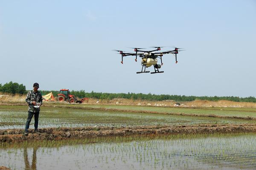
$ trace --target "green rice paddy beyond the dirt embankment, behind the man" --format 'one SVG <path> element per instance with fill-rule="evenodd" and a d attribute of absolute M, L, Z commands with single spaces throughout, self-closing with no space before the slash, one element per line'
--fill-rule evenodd
<path fill-rule="evenodd" d="M 80 107 L 80 106 L 79 106 Z M 111 107 L 111 106 L 105 106 Z M 112 106 L 116 108 L 116 106 Z M 118 107 L 119 108 L 119 107 Z M 219 118 L 208 116 L 180 116 L 180 115 L 167 115 L 155 113 L 140 113 L 132 112 L 135 109 L 143 111 L 169 111 L 172 109 L 178 113 L 178 108 L 154 108 L 154 107 L 125 107 L 131 108 L 130 112 L 124 111 L 102 111 L 102 110 L 86 110 L 75 108 L 59 108 L 45 106 L 41 108 L 39 125 L 40 127 L 85 127 L 85 126 L 110 126 L 110 127 L 123 127 L 123 126 L 147 126 L 147 125 L 200 125 L 200 124 L 254 124 L 256 119 L 233 119 L 233 118 Z M 134 110 L 133 110 L 134 109 Z M 203 109 L 184 109 L 181 111 L 190 113 L 189 111 L 201 111 Z M 208 111 L 208 110 L 207 110 Z M 223 113 L 224 112 L 224 113 Z M 211 114 L 225 115 L 226 111 L 211 110 Z M 231 112 L 231 111 L 229 111 Z M 208 113 L 205 113 L 207 115 Z M 234 111 L 233 116 L 254 116 L 256 112 L 253 111 Z M 231 115 L 231 113 L 229 113 Z M 23 128 L 27 118 L 27 106 L 0 106 L 0 129 L 16 129 Z M 33 121 L 31 122 L 33 127 Z"/>

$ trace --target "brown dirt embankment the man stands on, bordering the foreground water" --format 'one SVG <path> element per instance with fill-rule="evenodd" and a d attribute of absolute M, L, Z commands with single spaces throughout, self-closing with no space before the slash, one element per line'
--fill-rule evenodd
<path fill-rule="evenodd" d="M 256 132 L 256 125 L 180 125 L 144 127 L 61 127 L 42 128 L 40 134 L 30 131 L 23 135 L 23 129 L 0 130 L 0 142 L 23 142 L 33 140 L 83 139 L 97 136 L 130 136 L 183 133 L 235 133 Z"/>

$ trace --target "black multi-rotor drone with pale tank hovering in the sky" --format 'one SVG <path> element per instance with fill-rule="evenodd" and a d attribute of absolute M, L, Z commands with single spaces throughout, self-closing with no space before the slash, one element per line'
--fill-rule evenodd
<path fill-rule="evenodd" d="M 145 51 L 145 50 L 142 50 L 145 48 L 134 48 L 135 53 L 126 53 L 125 51 L 120 51 L 120 50 L 113 50 L 113 51 L 118 51 L 119 54 L 121 54 L 121 57 L 122 57 L 121 63 L 122 64 L 123 64 L 123 57 L 125 57 L 125 56 L 136 56 L 136 58 L 135 58 L 136 62 L 137 62 L 137 56 L 141 57 L 142 68 L 141 68 L 141 71 L 136 72 L 137 74 L 149 73 L 150 71 L 146 71 L 146 68 L 151 67 L 152 65 L 154 66 L 154 72 L 151 72 L 151 74 L 163 73 L 163 71 L 159 71 L 159 68 L 161 68 L 161 65 L 163 65 L 163 59 L 162 59 L 163 55 L 164 54 L 173 54 L 175 56 L 176 63 L 177 63 L 177 54 L 179 53 L 179 51 L 184 51 L 184 50 L 179 50 L 179 49 L 183 49 L 183 48 L 175 47 L 174 50 L 170 50 L 170 51 L 154 52 L 154 51 L 160 51 L 161 48 L 163 48 L 163 47 L 150 47 L 150 48 L 156 48 L 156 49 L 150 50 L 150 51 Z M 157 58 L 159 58 L 161 60 L 161 65 L 157 64 Z"/>

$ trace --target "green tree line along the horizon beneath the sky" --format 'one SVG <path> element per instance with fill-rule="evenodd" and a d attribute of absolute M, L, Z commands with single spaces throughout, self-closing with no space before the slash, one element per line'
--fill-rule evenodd
<path fill-rule="evenodd" d="M 4 85 L 0 84 L 0 92 L 6 94 L 26 94 L 28 91 L 26 90 L 26 86 L 23 84 L 18 84 L 17 82 L 9 82 Z M 56 97 L 59 94 L 59 91 L 44 91 L 42 90 L 42 95 L 48 94 L 52 92 L 52 94 Z M 200 100 L 209 100 L 209 101 L 218 101 L 218 100 L 229 100 L 233 102 L 256 102 L 256 98 L 253 96 L 250 97 L 237 97 L 237 96 L 181 96 L 181 95 L 169 95 L 169 94 L 142 94 L 142 93 L 102 93 L 102 92 L 85 92 L 84 90 L 80 91 L 70 91 L 70 94 L 75 95 L 76 97 L 83 98 L 94 98 L 94 99 L 143 99 L 143 100 L 174 100 L 177 102 L 185 102 L 185 101 L 194 101 L 197 99 Z"/>

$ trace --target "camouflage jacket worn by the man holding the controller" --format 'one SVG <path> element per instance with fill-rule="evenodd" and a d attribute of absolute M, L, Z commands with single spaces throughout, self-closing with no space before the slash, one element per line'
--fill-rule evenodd
<path fill-rule="evenodd" d="M 26 102 L 29 104 L 29 112 L 39 112 L 40 108 L 34 108 L 34 105 L 32 102 L 43 104 L 43 97 L 41 95 L 41 92 L 38 91 L 35 93 L 35 91 L 29 91 L 26 96 Z"/>

